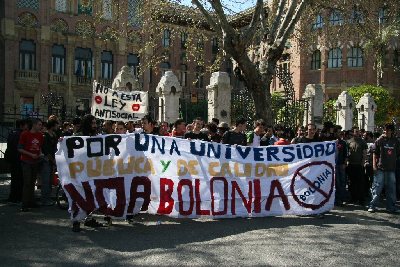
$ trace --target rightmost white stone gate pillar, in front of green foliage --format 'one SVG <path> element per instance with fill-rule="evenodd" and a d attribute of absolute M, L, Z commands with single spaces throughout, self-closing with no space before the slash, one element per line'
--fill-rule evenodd
<path fill-rule="evenodd" d="M 358 127 L 366 131 L 375 130 L 376 103 L 370 93 L 365 93 L 356 106 L 358 111 Z"/>

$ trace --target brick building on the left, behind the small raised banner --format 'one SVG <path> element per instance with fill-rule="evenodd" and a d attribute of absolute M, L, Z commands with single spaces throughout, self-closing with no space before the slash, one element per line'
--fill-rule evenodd
<path fill-rule="evenodd" d="M 1 1 L 0 39 L 0 116 L 4 114 L 49 113 L 74 116 L 87 113 L 91 105 L 93 80 L 111 86 L 122 66 L 138 71 L 141 39 L 135 9 L 139 0 L 120 1 L 126 17 L 113 20 L 111 0 L 93 6 L 84 0 Z M 94 14 L 102 20 L 94 26 Z M 115 29 L 127 37 L 113 36 Z M 160 38 L 160 48 L 168 58 L 156 69 L 144 70 L 138 77 L 149 91 L 150 113 L 157 113 L 155 88 L 166 69 L 173 70 L 183 86 L 182 105 L 207 114 L 206 89 L 209 74 L 195 63 L 187 63 L 182 54 L 184 35 L 172 38 L 168 29 Z M 210 61 L 216 42 L 204 44 L 204 58 Z M 195 82 L 196 81 L 196 82 Z M 201 104 L 201 105 L 200 105 Z M 185 113 L 185 110 L 183 110 Z"/>

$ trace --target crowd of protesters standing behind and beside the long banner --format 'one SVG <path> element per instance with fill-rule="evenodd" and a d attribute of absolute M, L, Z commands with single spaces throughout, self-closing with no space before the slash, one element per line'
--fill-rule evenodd
<path fill-rule="evenodd" d="M 335 205 L 351 203 L 375 212 L 384 195 L 387 211 L 398 212 L 395 203 L 400 198 L 400 136 L 396 136 L 393 124 L 386 124 L 381 133 L 357 127 L 343 131 L 331 122 L 324 123 L 322 129 L 317 129 L 314 124 L 290 129 L 266 125 L 262 119 L 256 120 L 251 129 L 246 129 L 246 126 L 247 121 L 243 118 L 237 119 L 234 125 L 215 118 L 205 123 L 200 117 L 192 122 L 177 119 L 169 124 L 157 122 L 149 115 L 140 121 L 126 123 L 100 121 L 90 114 L 62 123 L 55 115 L 47 121 L 38 118 L 18 120 L 16 129 L 8 136 L 5 154 L 11 170 L 8 202 L 20 205 L 21 212 L 54 205 L 51 195 L 53 176 L 57 171 L 55 153 L 60 138 L 145 133 L 253 147 L 335 141 Z M 34 198 L 35 187 L 41 192 L 39 203 Z M 127 219 L 131 220 L 132 216 Z M 99 227 L 102 223 L 88 218 L 85 225 Z M 79 227 L 79 222 L 74 222 L 73 230 L 79 231 Z"/>

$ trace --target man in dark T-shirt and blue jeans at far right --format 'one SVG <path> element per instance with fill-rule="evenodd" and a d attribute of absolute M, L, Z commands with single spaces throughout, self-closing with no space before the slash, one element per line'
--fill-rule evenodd
<path fill-rule="evenodd" d="M 400 155 L 399 140 L 394 137 L 394 125 L 386 124 L 385 132 L 375 141 L 372 155 L 374 183 L 372 184 L 372 200 L 368 212 L 375 212 L 383 187 L 386 194 L 386 210 L 390 213 L 399 213 L 396 208 L 396 159 Z"/>

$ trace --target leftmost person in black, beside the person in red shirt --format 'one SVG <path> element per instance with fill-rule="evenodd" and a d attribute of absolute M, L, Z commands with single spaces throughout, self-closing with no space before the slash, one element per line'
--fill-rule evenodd
<path fill-rule="evenodd" d="M 15 122 L 15 126 L 15 130 L 8 135 L 7 150 L 4 156 L 5 160 L 10 164 L 11 172 L 11 187 L 7 202 L 12 204 L 19 203 L 22 199 L 23 178 L 18 141 L 21 133 L 28 129 L 28 123 L 26 120 L 21 119 Z"/>

